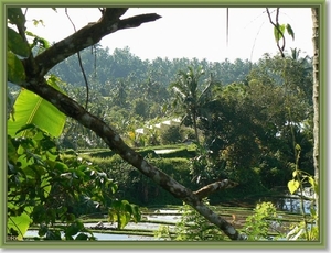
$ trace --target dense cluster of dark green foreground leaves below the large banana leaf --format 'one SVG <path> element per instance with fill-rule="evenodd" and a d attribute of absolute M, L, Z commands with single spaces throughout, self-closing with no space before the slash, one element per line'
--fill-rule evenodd
<path fill-rule="evenodd" d="M 73 240 L 78 232 L 87 232 L 78 220 L 79 206 L 85 211 L 107 209 L 115 198 L 116 183 L 92 163 L 76 156 L 64 157 L 56 140 L 34 124 L 25 125 L 18 134 L 22 131 L 23 136 L 8 135 L 7 140 L 7 233 L 22 240 L 31 226 L 38 226 L 44 240 L 62 239 L 58 229 L 65 240 Z M 138 212 L 137 209 L 131 212 Z"/>

